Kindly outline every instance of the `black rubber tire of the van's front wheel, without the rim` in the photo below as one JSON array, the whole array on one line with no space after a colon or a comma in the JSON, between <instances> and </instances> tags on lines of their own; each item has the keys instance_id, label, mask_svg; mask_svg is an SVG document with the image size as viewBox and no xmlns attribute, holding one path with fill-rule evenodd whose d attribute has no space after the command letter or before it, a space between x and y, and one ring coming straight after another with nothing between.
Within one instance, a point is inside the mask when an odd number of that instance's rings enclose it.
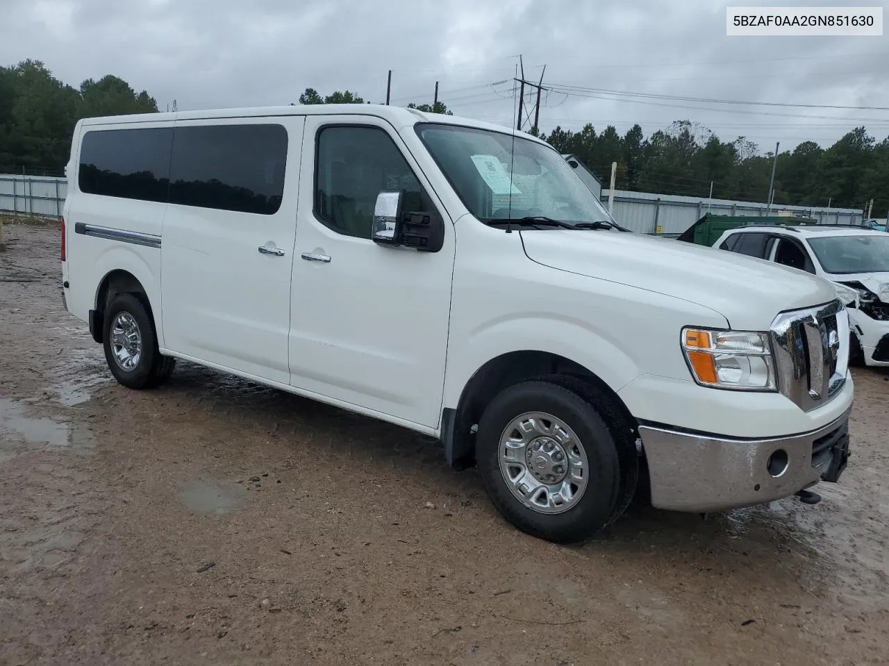
<instances>
[{"instance_id":1,"label":"black rubber tire of the van's front wheel, without the rim","mask_svg":"<svg viewBox=\"0 0 889 666\"><path fill-rule=\"evenodd\" d=\"M478 472L494 506L526 534L555 543L581 542L617 519L632 499L638 478L635 440L629 436L626 419L603 398L578 379L545 377L504 389L485 408L476 435ZM514 418L526 412L543 412L561 420L577 435L586 453L586 489L566 511L543 513L530 508L513 494L501 473L501 435Z\"/></svg>"}]
</instances>

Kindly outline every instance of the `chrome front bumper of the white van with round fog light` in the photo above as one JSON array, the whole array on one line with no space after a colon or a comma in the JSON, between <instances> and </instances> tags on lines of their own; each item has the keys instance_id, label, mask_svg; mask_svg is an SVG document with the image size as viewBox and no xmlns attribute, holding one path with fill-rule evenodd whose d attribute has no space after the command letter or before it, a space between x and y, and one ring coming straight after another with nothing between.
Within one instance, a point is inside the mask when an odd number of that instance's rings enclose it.
<instances>
[{"instance_id":1,"label":"chrome front bumper of the white van with round fog light","mask_svg":"<svg viewBox=\"0 0 889 666\"><path fill-rule=\"evenodd\" d=\"M812 432L771 439L640 425L652 504L669 511L725 511L792 496L821 480L836 483L849 457L850 411Z\"/></svg>"}]
</instances>

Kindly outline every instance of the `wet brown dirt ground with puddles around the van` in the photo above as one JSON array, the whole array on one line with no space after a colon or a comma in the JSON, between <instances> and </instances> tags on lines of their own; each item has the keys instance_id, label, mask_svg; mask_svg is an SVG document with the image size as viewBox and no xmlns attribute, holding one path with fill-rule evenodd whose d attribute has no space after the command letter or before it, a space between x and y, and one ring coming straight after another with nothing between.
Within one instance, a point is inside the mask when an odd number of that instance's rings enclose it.
<instances>
[{"instance_id":1,"label":"wet brown dirt ground with puddles around the van","mask_svg":"<svg viewBox=\"0 0 889 666\"><path fill-rule=\"evenodd\" d=\"M117 385L57 226L0 254L0 664L889 663L889 373L823 501L518 533L436 442L180 363Z\"/></svg>"}]
</instances>

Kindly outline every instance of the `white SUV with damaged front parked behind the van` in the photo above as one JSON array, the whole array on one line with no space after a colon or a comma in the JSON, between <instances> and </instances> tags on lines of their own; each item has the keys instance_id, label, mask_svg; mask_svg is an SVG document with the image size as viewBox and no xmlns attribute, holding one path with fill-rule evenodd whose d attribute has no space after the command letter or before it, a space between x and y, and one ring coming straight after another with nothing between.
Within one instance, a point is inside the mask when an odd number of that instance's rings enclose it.
<instances>
[{"instance_id":1,"label":"white SUV with damaged front parked behind the van","mask_svg":"<svg viewBox=\"0 0 889 666\"><path fill-rule=\"evenodd\" d=\"M849 311L853 361L889 366L889 234L853 226L746 226L713 247L834 282Z\"/></svg>"}]
</instances>

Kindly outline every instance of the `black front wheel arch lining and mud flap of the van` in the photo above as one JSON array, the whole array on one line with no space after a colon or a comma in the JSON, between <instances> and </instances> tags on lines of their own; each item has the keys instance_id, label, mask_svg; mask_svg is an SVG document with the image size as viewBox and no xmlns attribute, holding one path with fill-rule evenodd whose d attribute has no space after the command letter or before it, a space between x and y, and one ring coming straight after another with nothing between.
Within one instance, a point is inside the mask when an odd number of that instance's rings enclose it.
<instances>
[{"instance_id":1,"label":"black front wheel arch lining and mud flap of the van","mask_svg":"<svg viewBox=\"0 0 889 666\"><path fill-rule=\"evenodd\" d=\"M509 385L532 379L560 375L574 377L589 385L610 400L627 423L637 427L637 421L614 389L597 373L565 356L537 350L501 353L477 369L460 395L456 408L442 410L441 440L445 457L454 469L466 469L475 464L474 426L485 406Z\"/></svg>"}]
</instances>

